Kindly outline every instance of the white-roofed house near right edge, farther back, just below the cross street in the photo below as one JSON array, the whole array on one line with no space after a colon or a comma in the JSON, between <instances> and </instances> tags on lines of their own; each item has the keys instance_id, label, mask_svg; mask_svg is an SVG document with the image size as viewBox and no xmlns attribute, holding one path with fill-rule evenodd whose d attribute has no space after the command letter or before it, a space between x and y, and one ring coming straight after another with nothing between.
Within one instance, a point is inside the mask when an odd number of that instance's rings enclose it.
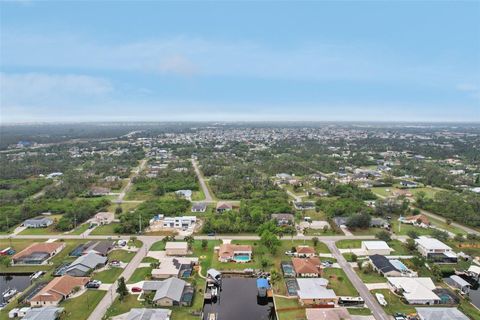
<instances>
[{"instance_id":1,"label":"white-roofed house near right edge, farther back, just below the cross street","mask_svg":"<svg viewBox=\"0 0 480 320\"><path fill-rule=\"evenodd\" d=\"M452 248L438 239L420 236L415 239L417 250L430 261L437 263L457 263L458 257Z\"/></svg>"}]
</instances>

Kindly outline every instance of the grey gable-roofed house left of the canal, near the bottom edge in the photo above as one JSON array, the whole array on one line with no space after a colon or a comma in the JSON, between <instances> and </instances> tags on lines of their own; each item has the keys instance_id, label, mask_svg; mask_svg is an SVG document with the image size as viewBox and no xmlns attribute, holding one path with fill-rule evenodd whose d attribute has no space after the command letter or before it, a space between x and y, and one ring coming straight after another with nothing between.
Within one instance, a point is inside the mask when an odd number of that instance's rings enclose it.
<instances>
[{"instance_id":1,"label":"grey gable-roofed house left of the canal, near the bottom edge","mask_svg":"<svg viewBox=\"0 0 480 320\"><path fill-rule=\"evenodd\" d=\"M185 300L183 297L187 292L192 293L191 289L187 282L178 278L143 283L143 292L146 294L154 292L153 303L162 307L188 305L191 300Z\"/></svg>"}]
</instances>

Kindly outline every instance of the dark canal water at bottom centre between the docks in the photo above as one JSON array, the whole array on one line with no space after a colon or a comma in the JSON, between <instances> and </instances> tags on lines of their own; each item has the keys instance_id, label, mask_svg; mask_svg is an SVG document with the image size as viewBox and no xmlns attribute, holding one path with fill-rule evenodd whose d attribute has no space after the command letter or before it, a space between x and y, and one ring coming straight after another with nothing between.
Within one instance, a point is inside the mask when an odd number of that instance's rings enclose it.
<instances>
[{"instance_id":1,"label":"dark canal water at bottom centre between the docks","mask_svg":"<svg viewBox=\"0 0 480 320\"><path fill-rule=\"evenodd\" d=\"M257 279L223 278L222 290L215 302L205 303L203 320L209 320L210 313L217 319L228 320L273 320L273 302L257 298Z\"/></svg>"}]
</instances>

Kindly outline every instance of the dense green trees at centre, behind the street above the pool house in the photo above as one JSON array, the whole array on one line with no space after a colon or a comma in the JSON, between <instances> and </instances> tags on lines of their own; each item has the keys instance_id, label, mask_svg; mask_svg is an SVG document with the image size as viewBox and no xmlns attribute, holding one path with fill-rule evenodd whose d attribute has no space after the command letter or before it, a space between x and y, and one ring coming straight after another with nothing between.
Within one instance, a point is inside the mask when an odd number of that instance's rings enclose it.
<instances>
[{"instance_id":1,"label":"dense green trees at centre, behind the street above the pool house","mask_svg":"<svg viewBox=\"0 0 480 320\"><path fill-rule=\"evenodd\" d=\"M281 190L255 192L251 194L251 199L241 202L239 211L207 214L203 232L255 232L259 225L270 220L272 213L289 212L292 212L292 208L285 192Z\"/></svg>"}]
</instances>

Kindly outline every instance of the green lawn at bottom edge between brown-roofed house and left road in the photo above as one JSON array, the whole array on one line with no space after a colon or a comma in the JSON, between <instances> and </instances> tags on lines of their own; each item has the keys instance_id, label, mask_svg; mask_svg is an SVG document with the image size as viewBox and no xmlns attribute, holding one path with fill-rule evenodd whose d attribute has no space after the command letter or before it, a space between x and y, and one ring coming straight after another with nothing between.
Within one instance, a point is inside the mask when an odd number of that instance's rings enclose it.
<instances>
[{"instance_id":1,"label":"green lawn at bottom edge between brown-roofed house and left road","mask_svg":"<svg viewBox=\"0 0 480 320\"><path fill-rule=\"evenodd\" d=\"M87 290L87 292L83 293L79 297L65 300L60 304L61 307L65 308L61 319L87 319L105 294L106 291Z\"/></svg>"}]
</instances>

